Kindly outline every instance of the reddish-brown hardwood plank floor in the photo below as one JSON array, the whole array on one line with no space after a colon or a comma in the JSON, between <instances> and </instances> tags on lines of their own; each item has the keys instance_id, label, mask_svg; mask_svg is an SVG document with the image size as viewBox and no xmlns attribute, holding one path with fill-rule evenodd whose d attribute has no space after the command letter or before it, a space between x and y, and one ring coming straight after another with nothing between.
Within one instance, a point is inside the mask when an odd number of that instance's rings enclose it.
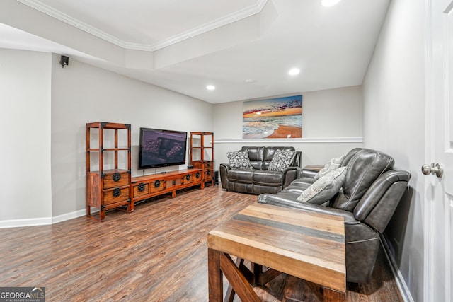
<instances>
[{"instance_id":1,"label":"reddish-brown hardwood plank floor","mask_svg":"<svg viewBox=\"0 0 453 302\"><path fill-rule=\"evenodd\" d=\"M207 301L207 233L253 202L214 186L109 211L103 223L0 229L0 286L45 286L48 302ZM319 301L285 274L256 291L263 301ZM403 301L382 252L372 282L348 284L346 298Z\"/></svg>"}]
</instances>

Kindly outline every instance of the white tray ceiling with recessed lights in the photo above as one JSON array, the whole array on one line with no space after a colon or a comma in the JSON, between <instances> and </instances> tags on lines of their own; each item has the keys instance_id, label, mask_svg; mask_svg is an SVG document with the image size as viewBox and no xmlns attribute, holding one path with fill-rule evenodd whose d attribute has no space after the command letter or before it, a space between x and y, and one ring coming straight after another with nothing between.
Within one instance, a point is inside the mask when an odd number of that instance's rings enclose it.
<instances>
[{"instance_id":1,"label":"white tray ceiling with recessed lights","mask_svg":"<svg viewBox=\"0 0 453 302\"><path fill-rule=\"evenodd\" d=\"M321 0L2 0L0 47L64 54L67 68L72 58L224 103L360 85L388 6L389 0L332 7ZM292 67L301 72L289 76Z\"/></svg>"}]
</instances>

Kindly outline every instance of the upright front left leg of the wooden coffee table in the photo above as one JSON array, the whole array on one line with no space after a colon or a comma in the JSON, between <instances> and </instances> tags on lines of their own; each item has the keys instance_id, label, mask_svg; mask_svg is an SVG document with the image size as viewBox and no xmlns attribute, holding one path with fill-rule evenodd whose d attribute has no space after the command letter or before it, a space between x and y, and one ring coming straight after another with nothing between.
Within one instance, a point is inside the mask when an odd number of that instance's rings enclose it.
<instances>
[{"instance_id":1,"label":"upright front left leg of the wooden coffee table","mask_svg":"<svg viewBox=\"0 0 453 302\"><path fill-rule=\"evenodd\" d=\"M207 272L209 283L209 301L223 301L223 280L222 271L220 270L220 254L217 250L207 249Z\"/></svg>"}]
</instances>

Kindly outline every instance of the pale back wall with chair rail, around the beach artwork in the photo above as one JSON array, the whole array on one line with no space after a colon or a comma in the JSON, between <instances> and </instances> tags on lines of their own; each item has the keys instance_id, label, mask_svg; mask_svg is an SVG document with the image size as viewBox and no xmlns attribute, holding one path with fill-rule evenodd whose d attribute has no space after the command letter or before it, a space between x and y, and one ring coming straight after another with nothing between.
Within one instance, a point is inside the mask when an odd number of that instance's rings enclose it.
<instances>
[{"instance_id":1,"label":"pale back wall with chair rail, around the beach artwork","mask_svg":"<svg viewBox=\"0 0 453 302\"><path fill-rule=\"evenodd\" d=\"M302 166L324 164L362 146L362 88L302 93L302 139L242 139L243 101L214 105L214 165L241 146L294 146Z\"/></svg>"}]
</instances>

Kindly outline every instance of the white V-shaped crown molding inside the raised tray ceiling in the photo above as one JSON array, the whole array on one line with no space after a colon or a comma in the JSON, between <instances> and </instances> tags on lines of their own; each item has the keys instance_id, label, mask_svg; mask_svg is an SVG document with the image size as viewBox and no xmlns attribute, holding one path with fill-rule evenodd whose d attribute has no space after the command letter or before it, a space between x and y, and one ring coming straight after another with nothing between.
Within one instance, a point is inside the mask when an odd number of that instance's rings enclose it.
<instances>
[{"instance_id":1,"label":"white V-shaped crown molding inside the raised tray ceiling","mask_svg":"<svg viewBox=\"0 0 453 302\"><path fill-rule=\"evenodd\" d=\"M110 42L114 45L119 47L128 49L128 50L144 50L144 51L156 51L160 50L161 48L173 45L175 43L181 42L183 40L187 40L190 37L195 37L197 35L201 35L203 33L207 33L210 30L214 30L224 25L228 25L230 23L234 23L236 21L242 20L243 18L247 18L257 13L260 13L265 4L268 0L258 0L256 5L248 6L243 8L241 11L237 11L236 13L231 13L227 16L222 18L218 18L209 23L205 23L203 25L198 26L197 28L193 28L192 30L188 30L185 33L181 33L179 35L174 35L173 37L169 37L168 39L162 40L157 42L153 45L144 45L139 43L131 43L125 42L123 40L114 37L113 35L109 35L108 33L104 33L102 30L98 30L91 25L88 25L84 22L79 21L76 18L72 18L68 16L66 13L62 13L61 11L52 8L46 4L38 0L17 0L26 6L30 6L31 8L40 11L41 13L45 13L52 18L56 18L59 21L67 23L68 25L74 26L75 28L79 28L80 30L84 30L84 32L94 35L102 40Z\"/></svg>"}]
</instances>

